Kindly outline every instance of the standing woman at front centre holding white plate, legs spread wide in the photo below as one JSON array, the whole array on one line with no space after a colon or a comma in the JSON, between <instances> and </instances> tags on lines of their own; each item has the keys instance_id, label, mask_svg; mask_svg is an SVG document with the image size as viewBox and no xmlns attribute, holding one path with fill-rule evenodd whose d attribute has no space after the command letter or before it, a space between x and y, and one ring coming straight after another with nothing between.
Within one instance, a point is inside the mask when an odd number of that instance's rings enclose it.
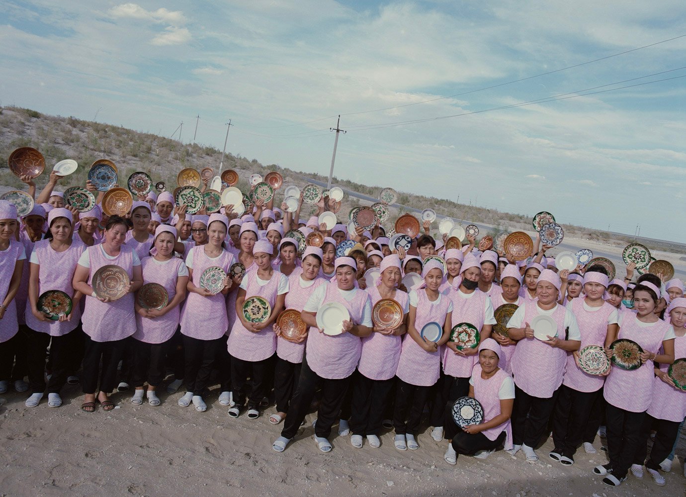
<instances>
[{"instance_id":1,"label":"standing woman at front centre holding white plate, legs spread wide","mask_svg":"<svg viewBox=\"0 0 686 497\"><path fill-rule=\"evenodd\" d=\"M305 420L316 389L322 398L315 424L315 441L322 452L331 450L331 426L338 420L343 398L355 371L362 349L361 338L372 332L372 305L366 291L355 288L357 265L352 257L339 257L335 262L336 279L322 284L303 308L300 316L311 330L307 336L307 354L300 370L298 388L291 400L281 437L273 448L283 452ZM324 303L338 302L350 314L342 332L328 335L317 328L317 313Z\"/></svg>"}]
</instances>

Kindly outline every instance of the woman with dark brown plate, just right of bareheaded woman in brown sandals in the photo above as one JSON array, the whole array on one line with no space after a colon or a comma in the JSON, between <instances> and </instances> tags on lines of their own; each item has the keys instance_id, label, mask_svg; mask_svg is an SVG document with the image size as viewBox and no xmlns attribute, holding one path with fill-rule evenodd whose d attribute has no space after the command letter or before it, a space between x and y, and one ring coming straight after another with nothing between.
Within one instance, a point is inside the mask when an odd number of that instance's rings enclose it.
<instances>
[{"instance_id":1,"label":"woman with dark brown plate, just right of bareheaded woman in brown sandals","mask_svg":"<svg viewBox=\"0 0 686 497\"><path fill-rule=\"evenodd\" d=\"M188 269L174 257L176 228L161 224L155 230L155 255L141 260L143 283L162 285L167 291L167 304L163 308L147 308L136 300L136 332L133 339L132 385L135 388L131 403L143 403L143 384L147 380L147 402L160 405L155 392L165 377L165 356L176 332L180 305L186 299Z\"/></svg>"}]
</instances>

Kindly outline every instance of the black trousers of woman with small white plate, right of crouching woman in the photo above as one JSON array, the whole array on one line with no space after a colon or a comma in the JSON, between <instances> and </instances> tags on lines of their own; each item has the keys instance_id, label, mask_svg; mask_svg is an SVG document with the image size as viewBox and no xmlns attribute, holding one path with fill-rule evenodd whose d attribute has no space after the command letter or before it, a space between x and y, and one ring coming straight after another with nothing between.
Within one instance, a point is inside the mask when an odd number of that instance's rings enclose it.
<instances>
[{"instance_id":1,"label":"black trousers of woman with small white plate, right of crouching woman","mask_svg":"<svg viewBox=\"0 0 686 497\"><path fill-rule=\"evenodd\" d=\"M555 396L534 397L514 384L514 407L512 407L512 443L536 448L545 433L548 420L555 406Z\"/></svg>"}]
</instances>

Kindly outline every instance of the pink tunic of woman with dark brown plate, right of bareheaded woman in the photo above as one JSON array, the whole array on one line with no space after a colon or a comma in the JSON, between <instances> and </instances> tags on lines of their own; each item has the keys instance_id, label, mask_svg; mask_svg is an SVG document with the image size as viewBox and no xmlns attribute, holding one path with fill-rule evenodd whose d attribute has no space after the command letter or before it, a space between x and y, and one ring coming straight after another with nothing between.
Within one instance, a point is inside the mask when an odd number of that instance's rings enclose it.
<instances>
[{"instance_id":1,"label":"pink tunic of woman with dark brown plate, right of bareheaded woman","mask_svg":"<svg viewBox=\"0 0 686 497\"><path fill-rule=\"evenodd\" d=\"M165 261L155 260L151 256L144 257L141 259L143 284L161 284L167 291L168 302L171 302L176 296L176 280L178 280L177 275L181 265L184 263L178 257L172 257ZM133 337L145 343L164 343L176 332L179 317L180 304L171 308L165 315L152 319L136 313L136 332Z\"/></svg>"}]
</instances>

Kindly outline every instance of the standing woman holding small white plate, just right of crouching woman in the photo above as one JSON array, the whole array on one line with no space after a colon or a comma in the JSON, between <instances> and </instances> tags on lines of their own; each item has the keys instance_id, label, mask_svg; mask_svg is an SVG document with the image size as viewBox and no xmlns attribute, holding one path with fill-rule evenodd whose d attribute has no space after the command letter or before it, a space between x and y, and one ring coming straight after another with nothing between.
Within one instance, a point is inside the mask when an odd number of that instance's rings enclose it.
<instances>
[{"instance_id":1,"label":"standing woman holding small white plate, just right of crouching woman","mask_svg":"<svg viewBox=\"0 0 686 497\"><path fill-rule=\"evenodd\" d=\"M541 441L553 411L567 352L578 350L581 343L576 318L569 308L557 303L561 284L554 271L543 269L536 282L536 300L527 300L508 322L508 335L517 340L512 356L517 400L512 413L514 447L510 454L517 454L521 449L530 462L539 459L534 447ZM556 324L555 334L547 335L545 341L534 338L530 326L539 315L552 318Z\"/></svg>"}]
</instances>

